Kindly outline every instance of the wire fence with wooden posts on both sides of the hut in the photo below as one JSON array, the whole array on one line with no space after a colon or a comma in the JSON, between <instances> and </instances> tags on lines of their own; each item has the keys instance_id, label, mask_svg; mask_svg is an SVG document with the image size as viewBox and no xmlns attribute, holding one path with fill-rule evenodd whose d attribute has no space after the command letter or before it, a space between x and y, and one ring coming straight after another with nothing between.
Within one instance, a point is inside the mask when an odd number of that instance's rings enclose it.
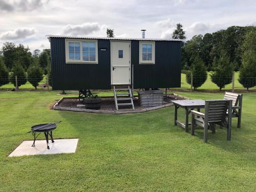
<instances>
[{"instance_id":1,"label":"wire fence with wooden posts on both sides of the hut","mask_svg":"<svg viewBox=\"0 0 256 192\"><path fill-rule=\"evenodd\" d=\"M0 78L0 89L6 90L31 90L45 89L51 90L52 77L44 75L43 78ZM179 90L205 91L205 90L224 90L224 91L256 91L256 77L244 77L239 79L239 74L235 73L229 77L211 78L205 76L189 76L181 74L181 87L174 88Z\"/></svg>"}]
</instances>

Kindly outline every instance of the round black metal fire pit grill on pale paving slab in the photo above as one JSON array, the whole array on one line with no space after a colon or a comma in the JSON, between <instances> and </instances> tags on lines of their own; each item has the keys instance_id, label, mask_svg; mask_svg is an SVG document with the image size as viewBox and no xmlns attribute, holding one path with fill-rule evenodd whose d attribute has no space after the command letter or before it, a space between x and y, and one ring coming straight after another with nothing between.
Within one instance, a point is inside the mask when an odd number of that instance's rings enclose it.
<instances>
[{"instance_id":1,"label":"round black metal fire pit grill on pale paving slab","mask_svg":"<svg viewBox=\"0 0 256 192\"><path fill-rule=\"evenodd\" d=\"M54 143L54 140L52 138L52 131L55 130L56 127L57 127L56 123L46 123L46 124L38 124L38 125L32 126L31 132L32 132L32 135L34 136L34 142L33 142L32 146L35 146L35 140L38 137L38 135L40 135L40 133L44 133L45 137L46 137L47 148L48 148L48 150L50 150L48 138L50 135L52 143Z\"/></svg>"}]
</instances>

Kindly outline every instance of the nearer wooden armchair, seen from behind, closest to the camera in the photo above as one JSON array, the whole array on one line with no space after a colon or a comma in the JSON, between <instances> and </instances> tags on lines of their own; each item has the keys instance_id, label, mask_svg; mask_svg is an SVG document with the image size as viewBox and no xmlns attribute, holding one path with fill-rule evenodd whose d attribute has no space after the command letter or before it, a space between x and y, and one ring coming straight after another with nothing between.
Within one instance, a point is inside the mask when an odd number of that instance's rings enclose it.
<instances>
[{"instance_id":1,"label":"nearer wooden armchair, seen from behind, closest to the camera","mask_svg":"<svg viewBox=\"0 0 256 192\"><path fill-rule=\"evenodd\" d=\"M199 125L204 128L204 142L207 142L208 128L215 133L215 125L218 124L227 128L227 140L231 139L232 100L206 100L204 114L194 110L190 112L192 114L191 135L195 134L195 126ZM195 118L195 115L198 118Z\"/></svg>"}]
</instances>

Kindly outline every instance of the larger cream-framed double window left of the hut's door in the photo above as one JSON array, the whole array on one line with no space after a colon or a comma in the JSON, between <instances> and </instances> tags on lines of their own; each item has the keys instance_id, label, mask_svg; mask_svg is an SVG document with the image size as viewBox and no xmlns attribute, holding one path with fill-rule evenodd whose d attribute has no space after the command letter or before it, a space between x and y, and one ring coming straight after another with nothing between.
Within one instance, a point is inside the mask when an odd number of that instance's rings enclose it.
<instances>
[{"instance_id":1,"label":"larger cream-framed double window left of the hut's door","mask_svg":"<svg viewBox=\"0 0 256 192\"><path fill-rule=\"evenodd\" d=\"M98 40L65 39L66 63L98 63Z\"/></svg>"}]
</instances>

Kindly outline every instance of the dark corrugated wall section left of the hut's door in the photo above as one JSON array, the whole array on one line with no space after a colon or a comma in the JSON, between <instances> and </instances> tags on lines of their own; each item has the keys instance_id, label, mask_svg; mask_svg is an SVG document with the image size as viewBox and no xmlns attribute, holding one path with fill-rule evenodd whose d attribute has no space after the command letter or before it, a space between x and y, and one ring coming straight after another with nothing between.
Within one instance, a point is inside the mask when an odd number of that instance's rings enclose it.
<instances>
[{"instance_id":1,"label":"dark corrugated wall section left of the hut's door","mask_svg":"<svg viewBox=\"0 0 256 192\"><path fill-rule=\"evenodd\" d=\"M53 90L111 89L109 40L98 40L98 64L66 63L65 54L65 38L51 38Z\"/></svg>"}]
</instances>

